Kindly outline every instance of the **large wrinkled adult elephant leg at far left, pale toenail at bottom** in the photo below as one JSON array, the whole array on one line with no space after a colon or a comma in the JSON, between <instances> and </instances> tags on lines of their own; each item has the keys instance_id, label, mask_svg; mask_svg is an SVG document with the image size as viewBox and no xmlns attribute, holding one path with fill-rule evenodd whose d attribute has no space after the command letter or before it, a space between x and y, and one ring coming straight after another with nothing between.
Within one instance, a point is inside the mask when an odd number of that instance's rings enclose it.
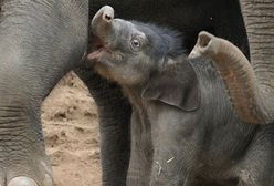
<instances>
[{"instance_id":1,"label":"large wrinkled adult elephant leg at far left, pale toenail at bottom","mask_svg":"<svg viewBox=\"0 0 274 186\"><path fill-rule=\"evenodd\" d=\"M0 185L52 186L40 110L87 45L87 0L4 0L0 20Z\"/></svg>"}]
</instances>

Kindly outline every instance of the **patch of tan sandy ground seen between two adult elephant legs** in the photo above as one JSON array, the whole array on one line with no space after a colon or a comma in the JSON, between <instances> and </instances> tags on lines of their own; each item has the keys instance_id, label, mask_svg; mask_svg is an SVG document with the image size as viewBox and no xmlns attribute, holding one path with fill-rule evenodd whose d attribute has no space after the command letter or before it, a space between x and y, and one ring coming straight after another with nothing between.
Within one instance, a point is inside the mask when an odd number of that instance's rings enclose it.
<instances>
[{"instance_id":1,"label":"patch of tan sandy ground seen between two adult elephant legs","mask_svg":"<svg viewBox=\"0 0 274 186\"><path fill-rule=\"evenodd\" d=\"M61 80L45 100L42 121L54 186L99 186L97 111L75 74Z\"/></svg>"}]
</instances>

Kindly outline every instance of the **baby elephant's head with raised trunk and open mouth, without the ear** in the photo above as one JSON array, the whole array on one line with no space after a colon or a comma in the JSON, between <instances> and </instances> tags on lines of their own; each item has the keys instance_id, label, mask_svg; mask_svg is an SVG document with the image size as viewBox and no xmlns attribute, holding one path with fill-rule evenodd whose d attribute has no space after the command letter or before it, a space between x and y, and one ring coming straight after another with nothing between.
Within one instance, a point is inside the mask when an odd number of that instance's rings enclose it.
<instances>
[{"instance_id":1,"label":"baby elephant's head with raised trunk and open mouth, without the ear","mask_svg":"<svg viewBox=\"0 0 274 186\"><path fill-rule=\"evenodd\" d=\"M105 6L92 20L93 52L87 59L103 76L120 84L139 84L182 54L178 33L136 21L114 19Z\"/></svg>"}]
</instances>

